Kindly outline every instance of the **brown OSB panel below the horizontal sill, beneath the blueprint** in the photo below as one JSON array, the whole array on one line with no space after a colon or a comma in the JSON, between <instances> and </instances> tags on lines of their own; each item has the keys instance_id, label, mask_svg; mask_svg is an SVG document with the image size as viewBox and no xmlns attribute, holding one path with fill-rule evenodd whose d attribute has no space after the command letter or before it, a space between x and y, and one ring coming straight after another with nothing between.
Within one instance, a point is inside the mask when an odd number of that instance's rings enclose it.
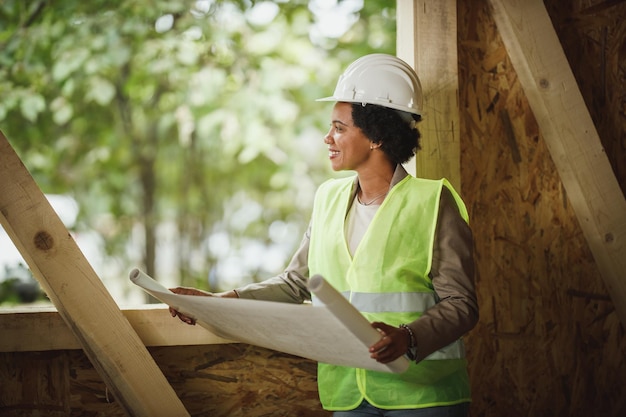
<instances>
[{"instance_id":1,"label":"brown OSB panel below the horizontal sill, beneath the blueprint","mask_svg":"<svg viewBox=\"0 0 626 417\"><path fill-rule=\"evenodd\" d=\"M331 415L313 361L245 344L150 353L191 416ZM81 350L0 353L0 387L3 417L126 416Z\"/></svg>"}]
</instances>

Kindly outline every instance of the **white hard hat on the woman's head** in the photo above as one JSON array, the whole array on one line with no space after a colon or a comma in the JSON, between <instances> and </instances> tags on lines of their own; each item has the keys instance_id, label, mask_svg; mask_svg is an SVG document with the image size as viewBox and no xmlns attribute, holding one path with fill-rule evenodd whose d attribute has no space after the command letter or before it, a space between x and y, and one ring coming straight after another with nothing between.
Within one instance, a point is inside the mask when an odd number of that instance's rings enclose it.
<instances>
[{"instance_id":1,"label":"white hard hat on the woman's head","mask_svg":"<svg viewBox=\"0 0 626 417\"><path fill-rule=\"evenodd\" d=\"M344 71L331 97L317 101L377 104L422 115L422 86L406 62L393 55L365 55Z\"/></svg>"}]
</instances>

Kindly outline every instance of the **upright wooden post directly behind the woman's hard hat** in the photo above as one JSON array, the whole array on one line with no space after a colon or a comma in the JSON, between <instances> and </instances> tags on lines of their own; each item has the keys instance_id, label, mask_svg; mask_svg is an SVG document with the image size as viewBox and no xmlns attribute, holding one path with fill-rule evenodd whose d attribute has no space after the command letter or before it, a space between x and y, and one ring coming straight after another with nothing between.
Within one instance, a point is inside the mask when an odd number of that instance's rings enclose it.
<instances>
[{"instance_id":1,"label":"upright wooden post directly behind the woman's hard hat","mask_svg":"<svg viewBox=\"0 0 626 417\"><path fill-rule=\"evenodd\" d=\"M418 177L446 177L461 190L456 0L397 2L397 54L422 83L422 149L407 164Z\"/></svg>"}]
</instances>

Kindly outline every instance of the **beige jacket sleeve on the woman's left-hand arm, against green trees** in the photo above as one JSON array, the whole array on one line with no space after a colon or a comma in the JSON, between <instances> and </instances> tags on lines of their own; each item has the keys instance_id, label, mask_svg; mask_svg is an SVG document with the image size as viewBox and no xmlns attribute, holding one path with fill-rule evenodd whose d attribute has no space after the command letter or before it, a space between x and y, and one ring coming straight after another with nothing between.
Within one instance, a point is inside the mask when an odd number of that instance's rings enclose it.
<instances>
[{"instance_id":1,"label":"beige jacket sleeve on the woman's left-hand arm, against green trees","mask_svg":"<svg viewBox=\"0 0 626 417\"><path fill-rule=\"evenodd\" d=\"M311 300L311 293L307 287L309 241L310 225L283 273L265 281L235 289L239 297L297 304Z\"/></svg>"}]
</instances>

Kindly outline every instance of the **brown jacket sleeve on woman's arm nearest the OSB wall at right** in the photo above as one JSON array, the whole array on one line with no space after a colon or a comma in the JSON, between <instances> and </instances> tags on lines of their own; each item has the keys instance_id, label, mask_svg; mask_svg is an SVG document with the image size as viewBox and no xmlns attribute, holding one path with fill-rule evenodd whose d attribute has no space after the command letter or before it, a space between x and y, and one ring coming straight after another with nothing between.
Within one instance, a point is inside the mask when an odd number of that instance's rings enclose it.
<instances>
[{"instance_id":1,"label":"brown jacket sleeve on woman's arm nearest the OSB wall at right","mask_svg":"<svg viewBox=\"0 0 626 417\"><path fill-rule=\"evenodd\" d=\"M439 302L408 324L417 339L417 361L459 339L478 322L472 232L446 187L439 206L430 277Z\"/></svg>"}]
</instances>

